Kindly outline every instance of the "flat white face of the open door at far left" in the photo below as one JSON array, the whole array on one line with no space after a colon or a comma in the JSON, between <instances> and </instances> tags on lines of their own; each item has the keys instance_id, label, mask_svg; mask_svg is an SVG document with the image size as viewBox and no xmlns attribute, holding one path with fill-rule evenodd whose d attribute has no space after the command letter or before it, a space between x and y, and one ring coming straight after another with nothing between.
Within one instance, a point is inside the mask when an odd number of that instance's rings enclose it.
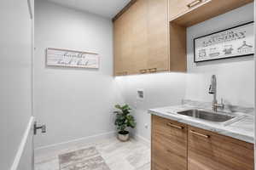
<instances>
[{"instance_id":1,"label":"flat white face of the open door at far left","mask_svg":"<svg viewBox=\"0 0 256 170\"><path fill-rule=\"evenodd\" d=\"M0 169L8 170L32 116L32 20L27 1L2 0L0 20Z\"/></svg>"}]
</instances>

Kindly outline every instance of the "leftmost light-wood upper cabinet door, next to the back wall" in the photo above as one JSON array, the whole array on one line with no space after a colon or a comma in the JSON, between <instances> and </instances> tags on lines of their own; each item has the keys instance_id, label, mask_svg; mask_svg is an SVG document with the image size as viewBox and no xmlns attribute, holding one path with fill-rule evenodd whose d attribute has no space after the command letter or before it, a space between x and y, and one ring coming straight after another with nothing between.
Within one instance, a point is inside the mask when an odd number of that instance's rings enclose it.
<instances>
[{"instance_id":1,"label":"leftmost light-wood upper cabinet door, next to the back wall","mask_svg":"<svg viewBox=\"0 0 256 170\"><path fill-rule=\"evenodd\" d=\"M147 69L147 2L137 1L114 21L114 66L117 76L138 74Z\"/></svg>"}]
</instances>

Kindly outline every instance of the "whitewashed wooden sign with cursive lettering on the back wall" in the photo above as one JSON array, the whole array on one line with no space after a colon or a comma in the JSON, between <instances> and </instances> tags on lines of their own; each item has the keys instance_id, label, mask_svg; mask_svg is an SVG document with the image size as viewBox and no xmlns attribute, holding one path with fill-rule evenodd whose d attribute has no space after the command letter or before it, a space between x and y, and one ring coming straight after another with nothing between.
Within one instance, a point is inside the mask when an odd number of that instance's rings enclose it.
<instances>
[{"instance_id":1,"label":"whitewashed wooden sign with cursive lettering on the back wall","mask_svg":"<svg viewBox=\"0 0 256 170\"><path fill-rule=\"evenodd\" d=\"M97 69L99 60L98 54L83 51L47 48L46 52L46 65L48 66Z\"/></svg>"}]
</instances>

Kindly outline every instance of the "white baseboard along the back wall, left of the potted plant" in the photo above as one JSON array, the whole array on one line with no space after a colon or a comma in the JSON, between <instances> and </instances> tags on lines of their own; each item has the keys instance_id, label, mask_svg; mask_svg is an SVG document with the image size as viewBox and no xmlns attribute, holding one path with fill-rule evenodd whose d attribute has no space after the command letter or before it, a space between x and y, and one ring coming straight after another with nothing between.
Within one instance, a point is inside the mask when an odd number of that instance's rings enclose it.
<instances>
[{"instance_id":1,"label":"white baseboard along the back wall, left of the potted plant","mask_svg":"<svg viewBox=\"0 0 256 170\"><path fill-rule=\"evenodd\" d=\"M108 132L108 133L100 133L100 134L96 134L96 135L92 135L92 136L88 136L88 137L84 137L84 138L80 138L80 139L73 139L73 140L69 140L66 142L61 142L58 144L49 144L43 147L38 147L35 149L35 155L36 156L40 156L40 155L44 155L44 154L48 154L51 152L55 152L57 150L65 150L69 147L73 147L77 144L90 144L90 143L94 143L98 140L101 139L108 139L108 138L112 138L115 136L115 132Z\"/></svg>"}]
</instances>

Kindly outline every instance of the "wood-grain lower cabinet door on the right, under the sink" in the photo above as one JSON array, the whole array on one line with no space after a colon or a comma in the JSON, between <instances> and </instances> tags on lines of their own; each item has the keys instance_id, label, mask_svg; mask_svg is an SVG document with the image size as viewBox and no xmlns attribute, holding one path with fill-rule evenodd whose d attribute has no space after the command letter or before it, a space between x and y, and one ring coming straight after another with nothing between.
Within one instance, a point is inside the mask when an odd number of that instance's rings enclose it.
<instances>
[{"instance_id":1,"label":"wood-grain lower cabinet door on the right, under the sink","mask_svg":"<svg viewBox=\"0 0 256 170\"><path fill-rule=\"evenodd\" d=\"M189 170L253 170L253 144L189 127Z\"/></svg>"}]
</instances>

